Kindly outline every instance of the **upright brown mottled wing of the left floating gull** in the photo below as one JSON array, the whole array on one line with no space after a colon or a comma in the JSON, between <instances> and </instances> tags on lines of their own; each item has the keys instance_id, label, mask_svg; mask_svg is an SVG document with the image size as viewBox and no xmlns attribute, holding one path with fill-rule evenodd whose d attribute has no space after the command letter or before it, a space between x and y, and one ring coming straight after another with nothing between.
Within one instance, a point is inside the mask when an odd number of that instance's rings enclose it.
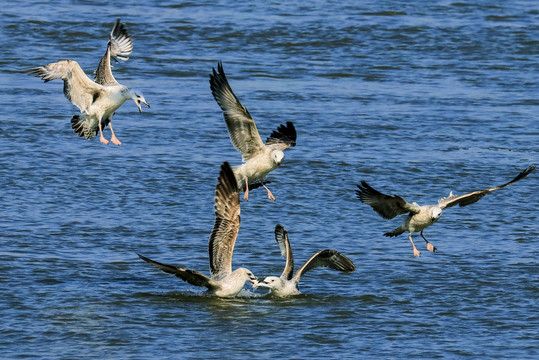
<instances>
[{"instance_id":1,"label":"upright brown mottled wing of the left floating gull","mask_svg":"<svg viewBox=\"0 0 539 360\"><path fill-rule=\"evenodd\" d=\"M240 197L234 172L221 165L215 186L215 223L208 244L212 277L219 280L232 272L232 253L240 228Z\"/></svg>"}]
</instances>

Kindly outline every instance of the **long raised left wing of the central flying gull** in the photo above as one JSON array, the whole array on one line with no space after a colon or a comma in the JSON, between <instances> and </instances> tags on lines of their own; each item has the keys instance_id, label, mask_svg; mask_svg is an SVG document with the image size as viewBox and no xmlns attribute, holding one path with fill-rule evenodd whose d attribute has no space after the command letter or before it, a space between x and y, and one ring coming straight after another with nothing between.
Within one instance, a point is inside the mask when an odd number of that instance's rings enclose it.
<instances>
[{"instance_id":1,"label":"long raised left wing of the central flying gull","mask_svg":"<svg viewBox=\"0 0 539 360\"><path fill-rule=\"evenodd\" d=\"M217 71L215 68L212 70L213 73L210 74L211 92L223 110L232 144L246 161L264 151L265 145L260 138L255 121L228 84L223 64L219 62Z\"/></svg>"}]
</instances>

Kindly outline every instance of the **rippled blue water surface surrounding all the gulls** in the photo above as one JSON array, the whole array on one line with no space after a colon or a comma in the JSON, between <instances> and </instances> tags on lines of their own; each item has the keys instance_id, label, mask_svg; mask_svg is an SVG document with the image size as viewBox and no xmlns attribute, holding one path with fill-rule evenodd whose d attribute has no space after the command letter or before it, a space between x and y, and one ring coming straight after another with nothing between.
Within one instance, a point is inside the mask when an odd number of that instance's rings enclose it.
<instances>
[{"instance_id":1,"label":"rippled blue water surface surrounding all the gulls","mask_svg":"<svg viewBox=\"0 0 539 360\"><path fill-rule=\"evenodd\" d=\"M77 137L62 82L21 72L91 73L118 17L134 51L114 74L151 105L116 112L121 147ZM0 19L2 358L539 357L539 173L444 211L419 258L354 194L433 204L539 163L537 2L31 0ZM223 300L137 257L209 273L219 165L240 163L209 90L219 60L262 138L298 131L277 201L242 201L234 266L280 274L281 223L297 266L334 248L355 272Z\"/></svg>"}]
</instances>

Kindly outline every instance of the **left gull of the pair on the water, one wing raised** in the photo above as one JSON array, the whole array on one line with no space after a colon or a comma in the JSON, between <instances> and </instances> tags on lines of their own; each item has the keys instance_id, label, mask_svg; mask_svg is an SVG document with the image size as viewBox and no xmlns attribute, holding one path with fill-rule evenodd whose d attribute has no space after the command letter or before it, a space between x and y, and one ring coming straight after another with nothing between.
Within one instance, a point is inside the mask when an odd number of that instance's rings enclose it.
<instances>
[{"instance_id":1,"label":"left gull of the pair on the water, one wing raised","mask_svg":"<svg viewBox=\"0 0 539 360\"><path fill-rule=\"evenodd\" d=\"M236 296L246 281L254 284L257 278L251 271L238 268L232 271L232 252L240 228L240 198L234 172L228 162L221 165L219 183L215 187L215 223L208 245L211 277L198 271L163 264L140 254L138 256L156 268L174 274L191 285L208 288L218 297Z\"/></svg>"}]
</instances>

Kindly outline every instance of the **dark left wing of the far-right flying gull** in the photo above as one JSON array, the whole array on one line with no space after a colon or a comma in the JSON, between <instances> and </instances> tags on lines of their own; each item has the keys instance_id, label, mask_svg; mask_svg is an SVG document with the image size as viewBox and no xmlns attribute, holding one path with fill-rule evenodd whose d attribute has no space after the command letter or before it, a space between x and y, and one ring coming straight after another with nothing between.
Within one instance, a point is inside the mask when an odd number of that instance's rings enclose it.
<instances>
[{"instance_id":1,"label":"dark left wing of the far-right flying gull","mask_svg":"<svg viewBox=\"0 0 539 360\"><path fill-rule=\"evenodd\" d=\"M393 219L397 215L406 213L418 213L420 206L410 204L398 195L385 195L378 190L373 189L367 182L361 181L361 185L357 185L359 190L356 190L358 199L370 205L381 217L385 219Z\"/></svg>"}]
</instances>

